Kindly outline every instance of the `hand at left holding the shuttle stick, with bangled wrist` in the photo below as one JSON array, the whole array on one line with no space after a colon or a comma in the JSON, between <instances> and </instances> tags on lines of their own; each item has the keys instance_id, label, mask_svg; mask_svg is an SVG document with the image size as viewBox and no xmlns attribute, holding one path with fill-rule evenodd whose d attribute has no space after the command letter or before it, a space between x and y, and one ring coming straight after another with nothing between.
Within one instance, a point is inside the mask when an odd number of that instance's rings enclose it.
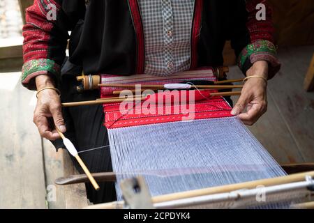
<instances>
[{"instance_id":1,"label":"hand at left holding the shuttle stick, with bangled wrist","mask_svg":"<svg viewBox=\"0 0 314 223\"><path fill-rule=\"evenodd\" d=\"M54 87L51 77L39 75L36 77L37 89ZM36 109L33 113L33 123L36 124L41 137L46 139L59 139L59 134L55 126L61 131L66 132L66 126L61 112L61 100L57 91L45 89L38 93Z\"/></svg>"}]
</instances>

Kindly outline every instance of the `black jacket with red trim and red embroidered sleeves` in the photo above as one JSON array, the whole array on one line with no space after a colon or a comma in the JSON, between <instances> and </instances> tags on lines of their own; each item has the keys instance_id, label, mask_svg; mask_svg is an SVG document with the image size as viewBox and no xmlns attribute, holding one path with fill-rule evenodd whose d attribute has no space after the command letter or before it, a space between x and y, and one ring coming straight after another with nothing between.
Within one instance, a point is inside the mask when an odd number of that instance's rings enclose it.
<instances>
[{"instance_id":1,"label":"black jacket with red trim and red embroidered sleeves","mask_svg":"<svg viewBox=\"0 0 314 223\"><path fill-rule=\"evenodd\" d=\"M57 6L55 21L45 16L50 2ZM267 20L256 20L257 3L267 7ZM68 31L72 31L70 36ZM273 31L271 10L264 0L195 0L190 69L222 66L225 41L231 40L244 73L254 60L263 59L274 68L272 76L279 68ZM27 9L23 35L22 83L29 89L36 75L59 77L68 38L70 62L87 74L132 75L144 70L144 37L136 0L90 0L87 6L84 0L35 0Z\"/></svg>"}]
</instances>

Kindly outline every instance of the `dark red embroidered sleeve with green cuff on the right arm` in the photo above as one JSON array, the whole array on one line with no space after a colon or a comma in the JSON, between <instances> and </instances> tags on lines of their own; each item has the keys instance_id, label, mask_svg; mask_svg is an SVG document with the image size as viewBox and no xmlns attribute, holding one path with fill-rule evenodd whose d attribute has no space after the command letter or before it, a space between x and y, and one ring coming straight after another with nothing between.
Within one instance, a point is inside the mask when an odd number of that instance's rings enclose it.
<instances>
[{"instance_id":1,"label":"dark red embroidered sleeve with green cuff on the right arm","mask_svg":"<svg viewBox=\"0 0 314 223\"><path fill-rule=\"evenodd\" d=\"M258 13L264 9L266 13L265 20L257 20ZM267 61L269 63L269 78L274 77L280 70L281 63L277 59L276 47L274 45L271 7L267 0L247 0L246 10L248 12L246 27L251 43L239 54L239 67L245 73L256 61Z\"/></svg>"}]
</instances>

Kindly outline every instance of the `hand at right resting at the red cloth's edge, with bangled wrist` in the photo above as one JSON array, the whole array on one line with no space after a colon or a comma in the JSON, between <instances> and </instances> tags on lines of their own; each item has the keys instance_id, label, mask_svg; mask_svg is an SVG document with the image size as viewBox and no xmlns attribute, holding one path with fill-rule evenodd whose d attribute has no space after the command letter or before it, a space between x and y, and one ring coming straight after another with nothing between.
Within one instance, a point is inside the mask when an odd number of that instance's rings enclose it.
<instances>
[{"instance_id":1,"label":"hand at right resting at the red cloth's edge, with bangled wrist","mask_svg":"<svg viewBox=\"0 0 314 223\"><path fill-rule=\"evenodd\" d=\"M252 75L260 75L267 78L268 63L266 61L255 62L248 72L246 72L247 77ZM259 77L248 79L231 114L239 115L239 118L244 124L253 125L267 111L266 90L267 82L264 79Z\"/></svg>"}]
</instances>

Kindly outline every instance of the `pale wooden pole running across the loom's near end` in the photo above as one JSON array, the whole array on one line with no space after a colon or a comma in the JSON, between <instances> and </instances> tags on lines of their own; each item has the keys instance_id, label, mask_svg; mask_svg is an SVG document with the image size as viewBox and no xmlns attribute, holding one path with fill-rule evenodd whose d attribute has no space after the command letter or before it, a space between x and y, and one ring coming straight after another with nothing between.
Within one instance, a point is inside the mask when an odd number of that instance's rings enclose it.
<instances>
[{"instance_id":1,"label":"pale wooden pole running across the loom's near end","mask_svg":"<svg viewBox=\"0 0 314 223\"><path fill-rule=\"evenodd\" d=\"M235 190L243 190L243 189L253 189L259 185L263 185L264 187L281 185L286 183L294 183L299 181L304 181L306 176L314 177L314 171L304 172L300 174L292 174L288 176L279 176L276 178L267 178L262 180L253 180L244 183L236 183L230 185L223 185L217 187L207 187L199 190L190 190L188 192L177 192L173 194L164 194L156 197L152 197L151 200L153 203L160 203L165 201L174 201L178 199L186 199L191 197L200 197L210 194L220 194L226 192L232 192ZM124 206L124 201L115 201L111 203L101 203L95 206L89 206L87 208L96 208L96 209L112 209L119 208Z\"/></svg>"}]
</instances>

